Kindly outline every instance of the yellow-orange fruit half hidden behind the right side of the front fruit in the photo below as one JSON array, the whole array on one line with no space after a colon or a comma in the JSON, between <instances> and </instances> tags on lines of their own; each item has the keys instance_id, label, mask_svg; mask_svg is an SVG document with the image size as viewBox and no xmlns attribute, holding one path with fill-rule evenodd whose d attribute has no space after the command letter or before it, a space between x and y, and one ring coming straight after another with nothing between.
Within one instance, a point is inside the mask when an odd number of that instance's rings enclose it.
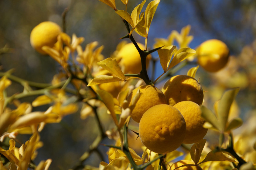
<instances>
[{"instance_id":1,"label":"yellow-orange fruit half hidden behind the right side of the front fruit","mask_svg":"<svg viewBox=\"0 0 256 170\"><path fill-rule=\"evenodd\" d=\"M200 106L192 101L181 101L173 107L181 112L186 122L187 131L183 143L196 143L203 139L208 129L203 127L205 120L201 117Z\"/></svg>"}]
</instances>

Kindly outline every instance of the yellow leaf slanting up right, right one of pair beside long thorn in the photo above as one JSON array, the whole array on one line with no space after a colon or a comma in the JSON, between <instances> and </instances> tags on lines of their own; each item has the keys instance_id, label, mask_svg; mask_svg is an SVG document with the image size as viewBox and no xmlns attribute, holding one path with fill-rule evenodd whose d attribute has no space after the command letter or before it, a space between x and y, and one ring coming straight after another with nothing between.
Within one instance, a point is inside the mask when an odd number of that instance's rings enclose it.
<instances>
[{"instance_id":1,"label":"yellow leaf slanting up right, right one of pair beside long thorn","mask_svg":"<svg viewBox=\"0 0 256 170\"><path fill-rule=\"evenodd\" d=\"M182 62L183 60L189 58L190 56L193 56L196 54L196 51L191 49L191 48L188 48L188 47L185 47L185 48L181 48L179 49L175 54L174 54L174 57L170 63L170 66L168 68L171 69L173 66L179 64L180 62Z\"/></svg>"}]
</instances>

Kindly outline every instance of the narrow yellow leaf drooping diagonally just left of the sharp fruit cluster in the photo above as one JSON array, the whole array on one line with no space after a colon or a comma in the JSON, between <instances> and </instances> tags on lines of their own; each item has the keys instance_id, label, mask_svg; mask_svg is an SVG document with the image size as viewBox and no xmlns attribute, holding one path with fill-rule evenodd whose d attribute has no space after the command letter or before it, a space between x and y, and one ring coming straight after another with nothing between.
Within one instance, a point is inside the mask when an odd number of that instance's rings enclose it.
<instances>
[{"instance_id":1,"label":"narrow yellow leaf drooping diagonally just left of the sharp fruit cluster","mask_svg":"<svg viewBox=\"0 0 256 170\"><path fill-rule=\"evenodd\" d=\"M101 90L101 89L96 90L96 92L99 94L102 101L104 102L104 104L106 105L108 110L110 111L110 114L111 114L116 126L118 126L118 121L117 121L115 109L114 109L114 97L109 92Z\"/></svg>"}]
</instances>

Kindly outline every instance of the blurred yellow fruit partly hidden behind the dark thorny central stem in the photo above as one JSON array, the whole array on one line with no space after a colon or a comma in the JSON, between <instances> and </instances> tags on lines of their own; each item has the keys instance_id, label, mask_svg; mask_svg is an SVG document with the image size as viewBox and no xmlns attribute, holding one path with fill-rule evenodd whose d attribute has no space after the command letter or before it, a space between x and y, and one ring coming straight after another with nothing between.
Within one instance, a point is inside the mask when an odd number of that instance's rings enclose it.
<instances>
[{"instance_id":1,"label":"blurred yellow fruit partly hidden behind the dark thorny central stem","mask_svg":"<svg viewBox=\"0 0 256 170\"><path fill-rule=\"evenodd\" d=\"M137 43L141 50L145 50L146 47ZM124 67L124 73L137 74L141 71L141 59L140 54L137 51L133 43L124 45L118 52L117 57L121 58L120 65ZM146 58L146 66L148 67L151 55Z\"/></svg>"}]
</instances>

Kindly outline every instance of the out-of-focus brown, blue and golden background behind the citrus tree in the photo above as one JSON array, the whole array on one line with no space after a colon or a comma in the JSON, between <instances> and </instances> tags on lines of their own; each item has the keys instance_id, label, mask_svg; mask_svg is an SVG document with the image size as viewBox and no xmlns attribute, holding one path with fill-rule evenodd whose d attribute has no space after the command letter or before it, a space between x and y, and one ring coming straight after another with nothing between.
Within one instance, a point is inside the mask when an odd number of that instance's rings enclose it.
<instances>
[{"instance_id":1,"label":"out-of-focus brown, blue and golden background behind the citrus tree","mask_svg":"<svg viewBox=\"0 0 256 170\"><path fill-rule=\"evenodd\" d=\"M148 0L146 2L149 3ZM140 1L129 0L128 12ZM121 1L116 0L118 9L125 9ZM144 5L145 8L146 5ZM0 1L0 48L11 50L0 55L1 72L15 68L13 75L39 83L50 83L58 72L58 65L50 57L37 53L30 45L31 30L43 21L53 21L62 25L62 13L66 13L66 33L85 37L87 43L98 41L104 45L103 55L110 57L126 35L121 18L112 8L97 0L1 0ZM242 90L237 97L237 112L248 118L247 112L255 114L256 103L256 1L255 0L161 0L149 32L149 48L154 38L167 38L172 30L180 30L191 25L190 35L194 36L190 48L195 49L208 39L219 39L230 48L233 56L228 67L216 74L210 74L199 68L196 78L204 87L205 103L218 100L226 88L240 86ZM134 33L135 40L144 43L144 39ZM157 57L157 53L153 54ZM160 68L160 69L158 69ZM186 74L185 67L179 74ZM157 64L155 77L162 73ZM229 79L227 79L229 78ZM23 88L13 83L8 89L13 94ZM34 97L25 98L32 101ZM47 108L47 107L45 107ZM43 110L44 107L35 109ZM104 111L102 111L104 113ZM111 119L105 113L104 129L111 128ZM39 149L37 164L40 160L52 158L50 169L68 169L77 163L97 136L97 126L93 117L80 119L80 114L68 115L59 124L48 124L42 131L44 146ZM29 136L28 136L29 137ZM24 136L20 136L21 141ZM103 141L103 143L109 141ZM99 146L99 154L93 153L85 164L98 167L101 154L108 148ZM104 161L107 161L104 158Z\"/></svg>"}]
</instances>

